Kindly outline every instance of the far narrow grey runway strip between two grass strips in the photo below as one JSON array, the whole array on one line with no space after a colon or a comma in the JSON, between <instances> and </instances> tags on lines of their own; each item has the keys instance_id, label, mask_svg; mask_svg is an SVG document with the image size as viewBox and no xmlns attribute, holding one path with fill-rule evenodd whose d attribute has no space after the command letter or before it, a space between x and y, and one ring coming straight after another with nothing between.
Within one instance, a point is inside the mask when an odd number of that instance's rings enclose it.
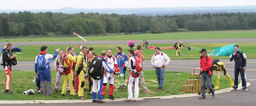
<instances>
[{"instance_id":1,"label":"far narrow grey runway strip between two grass strips","mask_svg":"<svg viewBox=\"0 0 256 106\"><path fill-rule=\"evenodd\" d=\"M210 42L255 42L256 38L240 39L174 39L174 40L148 40L149 44L175 44L177 41L185 43L210 43ZM42 41L42 42L11 42L15 46L42 46L42 45L91 45L91 44L128 44L129 41ZM0 42L0 46L6 46L7 42ZM141 40L135 40L135 44L141 44Z\"/></svg>"}]
</instances>

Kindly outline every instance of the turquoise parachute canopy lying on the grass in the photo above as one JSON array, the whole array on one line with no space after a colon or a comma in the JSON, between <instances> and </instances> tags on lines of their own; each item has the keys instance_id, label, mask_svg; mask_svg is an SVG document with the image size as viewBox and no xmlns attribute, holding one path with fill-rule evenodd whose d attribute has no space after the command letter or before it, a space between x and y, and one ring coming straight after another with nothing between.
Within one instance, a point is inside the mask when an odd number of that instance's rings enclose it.
<instances>
[{"instance_id":1,"label":"turquoise parachute canopy lying on the grass","mask_svg":"<svg viewBox=\"0 0 256 106\"><path fill-rule=\"evenodd\" d=\"M227 45L224 47L217 47L214 52L210 53L209 55L217 55L217 56L229 56L235 52L235 45L237 44L232 44L232 45ZM240 49L239 49L240 51Z\"/></svg>"}]
</instances>

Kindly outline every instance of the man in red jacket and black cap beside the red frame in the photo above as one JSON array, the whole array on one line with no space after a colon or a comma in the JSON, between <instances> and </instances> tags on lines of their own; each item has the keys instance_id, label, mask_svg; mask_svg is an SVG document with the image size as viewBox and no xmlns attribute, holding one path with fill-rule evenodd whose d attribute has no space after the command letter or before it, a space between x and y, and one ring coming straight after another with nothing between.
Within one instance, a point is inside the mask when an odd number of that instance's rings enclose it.
<instances>
[{"instance_id":1,"label":"man in red jacket and black cap beside the red frame","mask_svg":"<svg viewBox=\"0 0 256 106\"><path fill-rule=\"evenodd\" d=\"M212 68L212 59L207 55L207 52L205 49L202 49L200 51L201 57L200 57L200 75L201 75L201 84L202 84L202 97L199 97L199 99L205 99L205 80L207 87L209 88L210 92L212 93L212 99L214 99L214 89L212 88L211 80L212 80L212 71L210 70Z\"/></svg>"}]
</instances>

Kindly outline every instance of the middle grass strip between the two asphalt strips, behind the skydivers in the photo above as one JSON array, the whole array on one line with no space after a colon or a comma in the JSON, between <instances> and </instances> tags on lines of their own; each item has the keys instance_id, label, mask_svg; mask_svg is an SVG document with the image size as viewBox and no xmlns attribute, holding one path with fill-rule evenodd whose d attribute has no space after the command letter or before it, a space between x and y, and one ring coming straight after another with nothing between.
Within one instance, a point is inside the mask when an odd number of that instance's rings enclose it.
<instances>
[{"instance_id":1,"label":"middle grass strip between the two asphalt strips, behind the skydivers","mask_svg":"<svg viewBox=\"0 0 256 106\"><path fill-rule=\"evenodd\" d=\"M193 47L190 51L187 51L187 49L181 50L181 56L177 57L175 56L175 50L169 49L169 50L162 50L162 52L165 52L165 54L169 55L170 59L172 60L180 60L180 59L199 59L199 51L202 48L207 49L208 53L212 52L216 47L221 47L225 45L229 45L230 43L207 43L207 44L186 44L191 47ZM240 48L243 52L247 55L247 59L256 59L256 42L239 42ZM151 44L150 44L151 45ZM152 44L153 46L159 46L159 47L170 47L174 44ZM123 51L127 54L127 51L129 49L126 45L120 45L123 49ZM35 60L35 57L37 54L39 54L40 46L19 46L22 49L22 54L17 54L17 60ZM60 49L66 49L67 46L48 46L48 53L54 54L54 51L57 48ZM75 49L75 52L79 53L78 46L73 46ZM100 54L101 51L107 51L107 49L113 49L113 55L116 54L116 47L117 45L90 45L87 47L94 47L94 51L96 54ZM152 55L155 54L155 51L152 49L147 49L144 51L144 59L149 60L151 59ZM229 56L211 56L212 59L229 59Z\"/></svg>"}]
</instances>

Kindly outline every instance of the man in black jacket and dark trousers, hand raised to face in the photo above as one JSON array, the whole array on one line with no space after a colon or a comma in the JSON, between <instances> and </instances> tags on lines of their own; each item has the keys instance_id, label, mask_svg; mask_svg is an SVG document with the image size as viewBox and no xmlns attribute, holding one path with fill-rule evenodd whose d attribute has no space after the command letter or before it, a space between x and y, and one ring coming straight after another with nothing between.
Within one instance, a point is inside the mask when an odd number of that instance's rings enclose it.
<instances>
[{"instance_id":1,"label":"man in black jacket and dark trousers, hand raised to face","mask_svg":"<svg viewBox=\"0 0 256 106\"><path fill-rule=\"evenodd\" d=\"M246 70L246 55L244 52L239 51L239 46L235 45L235 52L230 55L230 61L235 61L235 81L234 81L234 89L231 91L236 91L239 84L239 72L242 79L242 90L247 92L246 86L246 78L245 78L245 70Z\"/></svg>"}]
</instances>

